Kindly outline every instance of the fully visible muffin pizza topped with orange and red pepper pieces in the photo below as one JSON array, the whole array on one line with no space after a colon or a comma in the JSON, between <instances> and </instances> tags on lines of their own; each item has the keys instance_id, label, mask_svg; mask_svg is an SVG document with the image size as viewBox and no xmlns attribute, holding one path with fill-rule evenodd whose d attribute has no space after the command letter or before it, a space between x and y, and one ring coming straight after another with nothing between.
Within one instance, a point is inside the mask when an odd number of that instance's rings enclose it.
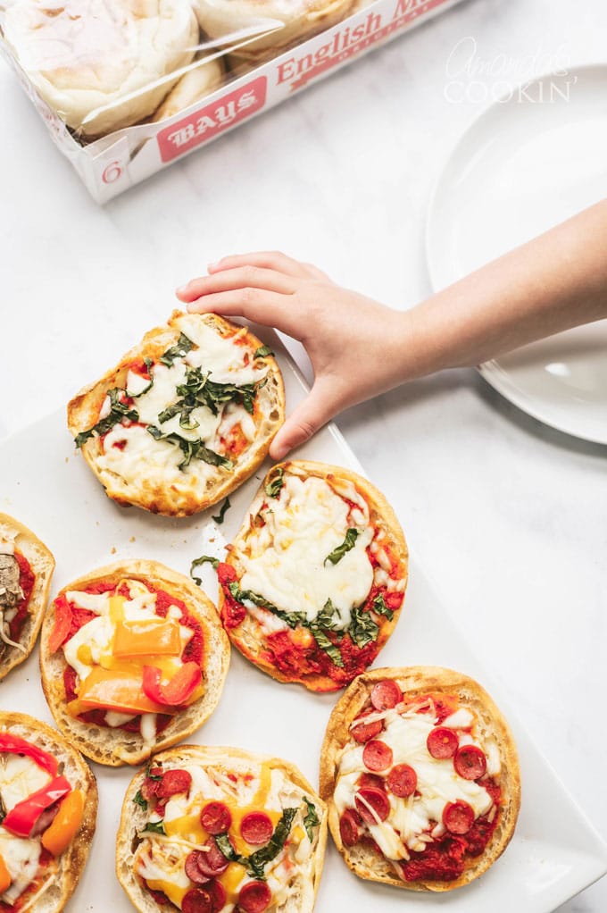
<instances>
[{"instance_id":1,"label":"fully visible muffin pizza topped with orange and red pepper pieces","mask_svg":"<svg viewBox=\"0 0 607 913\"><path fill-rule=\"evenodd\" d=\"M40 640L58 728L112 767L141 764L202 726L229 657L215 605L157 561L117 562L69 583L49 605Z\"/></svg>"}]
</instances>

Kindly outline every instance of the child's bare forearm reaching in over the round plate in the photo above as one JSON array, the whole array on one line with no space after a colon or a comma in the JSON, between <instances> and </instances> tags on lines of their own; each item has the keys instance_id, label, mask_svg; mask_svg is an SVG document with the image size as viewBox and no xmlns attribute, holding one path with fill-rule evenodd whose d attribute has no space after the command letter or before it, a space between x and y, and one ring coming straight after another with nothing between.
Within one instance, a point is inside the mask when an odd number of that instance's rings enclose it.
<instances>
[{"instance_id":1,"label":"child's bare forearm reaching in over the round plate","mask_svg":"<svg viewBox=\"0 0 607 913\"><path fill-rule=\"evenodd\" d=\"M403 314L402 380L607 317L607 201Z\"/></svg>"}]
</instances>

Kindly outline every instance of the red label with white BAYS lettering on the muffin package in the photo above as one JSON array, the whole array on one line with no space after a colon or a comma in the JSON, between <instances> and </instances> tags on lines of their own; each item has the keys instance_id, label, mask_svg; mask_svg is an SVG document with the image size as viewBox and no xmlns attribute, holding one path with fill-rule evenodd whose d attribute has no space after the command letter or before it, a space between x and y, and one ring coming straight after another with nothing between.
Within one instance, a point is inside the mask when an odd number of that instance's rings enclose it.
<instances>
[{"instance_id":1,"label":"red label with white BAYS lettering on the muffin package","mask_svg":"<svg viewBox=\"0 0 607 913\"><path fill-rule=\"evenodd\" d=\"M162 162L172 162L195 146L214 139L218 133L245 121L264 107L266 93L267 79L260 76L161 130L156 139Z\"/></svg>"}]
</instances>

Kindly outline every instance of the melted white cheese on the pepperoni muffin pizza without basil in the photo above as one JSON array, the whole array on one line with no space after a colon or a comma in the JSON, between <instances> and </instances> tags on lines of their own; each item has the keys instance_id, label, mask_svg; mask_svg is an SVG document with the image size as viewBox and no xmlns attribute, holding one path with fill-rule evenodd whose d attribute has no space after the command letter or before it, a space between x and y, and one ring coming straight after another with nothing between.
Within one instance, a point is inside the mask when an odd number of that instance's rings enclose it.
<instances>
[{"instance_id":1,"label":"melted white cheese on the pepperoni muffin pizza without basil","mask_svg":"<svg viewBox=\"0 0 607 913\"><path fill-rule=\"evenodd\" d=\"M456 773L453 759L436 759L430 755L426 742L436 725L433 714L410 711L400 715L393 709L386 711L383 719L384 730L378 738L392 749L392 764L413 767L420 794L402 799L388 792L388 818L370 824L369 830L386 858L406 859L407 848L416 851L424 848L420 837L430 830L431 822L442 823L447 803L466 802L478 817L491 809L493 800L481 783L465 780ZM465 711L461 719L469 726L473 718ZM472 735L464 732L459 741L460 744L475 744L491 756L490 740L487 744L478 745ZM354 741L342 750L335 790L335 804L340 814L346 808L355 806L356 782L361 772L366 770L362 761L363 750L364 746Z\"/></svg>"}]
</instances>

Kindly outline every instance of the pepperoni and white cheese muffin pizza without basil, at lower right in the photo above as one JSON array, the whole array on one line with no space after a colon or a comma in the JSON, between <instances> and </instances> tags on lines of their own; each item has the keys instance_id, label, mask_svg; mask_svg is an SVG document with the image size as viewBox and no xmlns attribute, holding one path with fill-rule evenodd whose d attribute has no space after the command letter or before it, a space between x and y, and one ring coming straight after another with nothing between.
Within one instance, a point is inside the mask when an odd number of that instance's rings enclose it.
<instances>
[{"instance_id":1,"label":"pepperoni and white cheese muffin pizza without basil, at lower right","mask_svg":"<svg viewBox=\"0 0 607 913\"><path fill-rule=\"evenodd\" d=\"M486 872L514 833L517 749L472 678L438 666L373 669L333 708L319 792L356 875L450 891Z\"/></svg>"}]
</instances>

